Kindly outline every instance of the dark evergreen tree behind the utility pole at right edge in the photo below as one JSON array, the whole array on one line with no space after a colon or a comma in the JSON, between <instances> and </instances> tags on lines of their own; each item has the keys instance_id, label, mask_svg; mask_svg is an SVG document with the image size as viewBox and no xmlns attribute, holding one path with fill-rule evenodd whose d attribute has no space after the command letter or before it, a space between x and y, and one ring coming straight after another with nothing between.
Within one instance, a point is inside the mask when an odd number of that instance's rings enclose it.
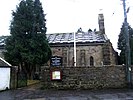
<instances>
[{"instance_id":1,"label":"dark evergreen tree behind the utility pole at right edge","mask_svg":"<svg viewBox=\"0 0 133 100\"><path fill-rule=\"evenodd\" d=\"M130 51L131 51L131 64L133 64L133 29L128 25L129 41L130 41ZM118 38L118 49L120 52L120 64L126 64L126 36L124 23L122 25L119 38Z\"/></svg>"}]
</instances>

